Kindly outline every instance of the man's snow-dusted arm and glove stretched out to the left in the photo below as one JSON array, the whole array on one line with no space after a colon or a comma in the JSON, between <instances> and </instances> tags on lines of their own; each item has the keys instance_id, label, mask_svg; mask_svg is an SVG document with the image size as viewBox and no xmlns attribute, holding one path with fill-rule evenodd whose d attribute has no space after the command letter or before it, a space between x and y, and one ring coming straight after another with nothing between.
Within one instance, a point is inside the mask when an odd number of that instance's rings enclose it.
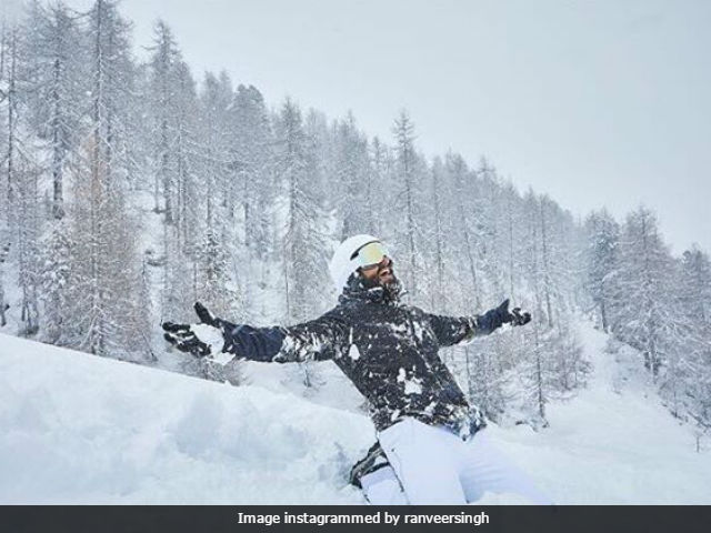
<instances>
[{"instance_id":1,"label":"man's snow-dusted arm and glove stretched out to the left","mask_svg":"<svg viewBox=\"0 0 711 533\"><path fill-rule=\"evenodd\" d=\"M196 356L224 359L232 354L250 361L288 363L337 358L342 350L344 326L326 314L319 319L289 328L253 328L234 324L210 313L196 303L199 323L162 324L164 339L172 345Z\"/></svg>"}]
</instances>

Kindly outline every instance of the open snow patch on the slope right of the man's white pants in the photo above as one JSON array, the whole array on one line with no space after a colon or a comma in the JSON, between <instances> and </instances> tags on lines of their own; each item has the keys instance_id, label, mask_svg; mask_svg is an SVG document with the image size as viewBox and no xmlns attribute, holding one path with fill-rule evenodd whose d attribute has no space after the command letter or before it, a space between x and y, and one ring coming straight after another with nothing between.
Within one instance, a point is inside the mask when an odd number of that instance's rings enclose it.
<instances>
[{"instance_id":1,"label":"open snow patch on the slope right of the man's white pants","mask_svg":"<svg viewBox=\"0 0 711 533\"><path fill-rule=\"evenodd\" d=\"M711 504L711 454L694 451L692 431L638 373L624 375L632 363L605 353L608 335L580 332L594 368L588 388L549 406L550 428L493 426L493 439L559 503Z\"/></svg>"}]
</instances>

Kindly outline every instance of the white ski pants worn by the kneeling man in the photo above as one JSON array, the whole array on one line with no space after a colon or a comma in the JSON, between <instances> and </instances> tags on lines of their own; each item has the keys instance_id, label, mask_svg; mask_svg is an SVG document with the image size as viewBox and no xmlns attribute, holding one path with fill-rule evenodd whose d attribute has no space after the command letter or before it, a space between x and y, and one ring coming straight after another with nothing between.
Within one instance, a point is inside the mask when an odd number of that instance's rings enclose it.
<instances>
[{"instance_id":1,"label":"white ski pants worn by the kneeling man","mask_svg":"<svg viewBox=\"0 0 711 533\"><path fill-rule=\"evenodd\" d=\"M404 419L380 432L390 466L361 477L374 505L457 505L485 492L513 493L531 503L552 503L480 431L468 441L444 428Z\"/></svg>"}]
</instances>

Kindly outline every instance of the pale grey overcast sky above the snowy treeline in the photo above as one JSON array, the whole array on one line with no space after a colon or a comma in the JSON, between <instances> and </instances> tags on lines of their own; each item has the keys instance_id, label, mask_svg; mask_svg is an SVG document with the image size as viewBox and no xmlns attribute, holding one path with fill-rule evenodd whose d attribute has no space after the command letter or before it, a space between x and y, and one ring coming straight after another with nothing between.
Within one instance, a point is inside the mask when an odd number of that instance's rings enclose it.
<instances>
[{"instance_id":1,"label":"pale grey overcast sky above the snowy treeline","mask_svg":"<svg viewBox=\"0 0 711 533\"><path fill-rule=\"evenodd\" d=\"M137 47L164 19L199 78L224 69L270 104L290 94L332 118L350 109L388 140L404 107L428 155L485 154L581 215L644 203L675 253L711 251L709 0L123 0L121 11Z\"/></svg>"}]
</instances>

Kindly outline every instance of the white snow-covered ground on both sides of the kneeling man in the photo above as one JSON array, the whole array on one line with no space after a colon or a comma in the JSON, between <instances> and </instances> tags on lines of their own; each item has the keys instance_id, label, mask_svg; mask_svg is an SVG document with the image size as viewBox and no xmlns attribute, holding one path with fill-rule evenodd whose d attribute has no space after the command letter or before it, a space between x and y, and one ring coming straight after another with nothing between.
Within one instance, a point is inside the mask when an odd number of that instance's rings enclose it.
<instances>
[{"instance_id":1,"label":"white snow-covered ground on both sides of the kneeling man","mask_svg":"<svg viewBox=\"0 0 711 533\"><path fill-rule=\"evenodd\" d=\"M492 424L491 439L559 503L710 504L711 454L582 329L588 389L549 405L549 429ZM346 474L368 419L268 386L0 334L0 503L363 503Z\"/></svg>"}]
</instances>

